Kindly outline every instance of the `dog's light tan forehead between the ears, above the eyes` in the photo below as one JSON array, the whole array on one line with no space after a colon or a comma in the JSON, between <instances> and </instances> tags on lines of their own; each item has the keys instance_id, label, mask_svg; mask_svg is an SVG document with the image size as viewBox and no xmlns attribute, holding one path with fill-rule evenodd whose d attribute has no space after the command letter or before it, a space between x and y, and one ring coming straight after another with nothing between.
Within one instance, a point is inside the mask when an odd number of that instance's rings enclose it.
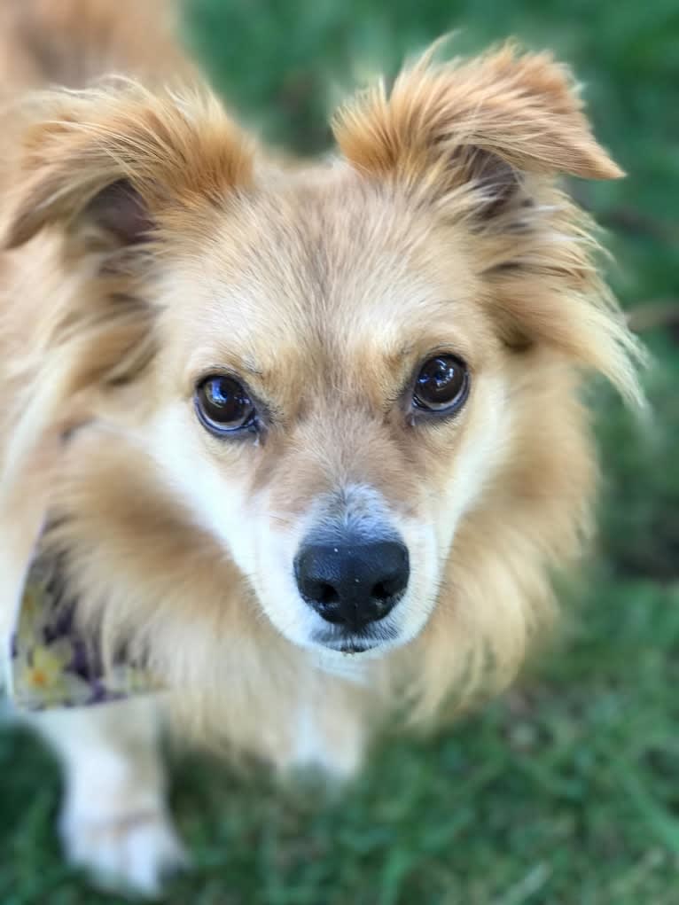
<instances>
[{"instance_id":1,"label":"dog's light tan forehead between the ears, above the eyes","mask_svg":"<svg viewBox=\"0 0 679 905\"><path fill-rule=\"evenodd\" d=\"M442 268L435 233L433 217L355 175L234 198L182 280L193 282L186 337L214 348L215 362L238 356L264 369L286 350L397 356L414 331L435 332L473 296L463 248L446 247Z\"/></svg>"}]
</instances>

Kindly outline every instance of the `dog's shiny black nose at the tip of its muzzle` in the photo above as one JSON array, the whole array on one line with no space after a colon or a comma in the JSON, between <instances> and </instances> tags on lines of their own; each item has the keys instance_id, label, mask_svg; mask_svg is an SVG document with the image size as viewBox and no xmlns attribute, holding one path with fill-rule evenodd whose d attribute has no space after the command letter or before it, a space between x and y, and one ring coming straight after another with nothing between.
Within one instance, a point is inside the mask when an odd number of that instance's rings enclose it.
<instances>
[{"instance_id":1,"label":"dog's shiny black nose at the tip of its muzzle","mask_svg":"<svg viewBox=\"0 0 679 905\"><path fill-rule=\"evenodd\" d=\"M295 559L304 600L323 619L354 632L387 615L409 574L407 548L397 540L305 544Z\"/></svg>"}]
</instances>

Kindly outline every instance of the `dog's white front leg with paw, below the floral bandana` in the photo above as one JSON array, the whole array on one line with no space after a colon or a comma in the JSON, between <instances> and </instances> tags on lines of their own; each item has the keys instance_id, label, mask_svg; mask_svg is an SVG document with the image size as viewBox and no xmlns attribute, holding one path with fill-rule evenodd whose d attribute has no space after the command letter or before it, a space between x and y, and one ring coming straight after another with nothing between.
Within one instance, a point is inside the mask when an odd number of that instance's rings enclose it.
<instances>
[{"instance_id":1,"label":"dog's white front leg with paw, below the floral bandana","mask_svg":"<svg viewBox=\"0 0 679 905\"><path fill-rule=\"evenodd\" d=\"M156 702L53 710L32 721L65 770L60 829L72 863L107 886L157 893L186 857L167 814Z\"/></svg>"}]
</instances>

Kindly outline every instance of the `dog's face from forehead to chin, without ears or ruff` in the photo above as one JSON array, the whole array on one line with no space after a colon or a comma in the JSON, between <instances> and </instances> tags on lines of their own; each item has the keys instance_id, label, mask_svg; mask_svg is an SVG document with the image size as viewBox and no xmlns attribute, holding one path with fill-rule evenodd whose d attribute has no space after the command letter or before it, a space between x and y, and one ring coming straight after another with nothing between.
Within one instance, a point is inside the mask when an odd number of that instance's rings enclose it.
<instances>
[{"instance_id":1,"label":"dog's face from forehead to chin, without ears or ruff","mask_svg":"<svg viewBox=\"0 0 679 905\"><path fill-rule=\"evenodd\" d=\"M339 172L234 199L158 287L161 472L291 641L406 643L506 444L464 232Z\"/></svg>"}]
</instances>

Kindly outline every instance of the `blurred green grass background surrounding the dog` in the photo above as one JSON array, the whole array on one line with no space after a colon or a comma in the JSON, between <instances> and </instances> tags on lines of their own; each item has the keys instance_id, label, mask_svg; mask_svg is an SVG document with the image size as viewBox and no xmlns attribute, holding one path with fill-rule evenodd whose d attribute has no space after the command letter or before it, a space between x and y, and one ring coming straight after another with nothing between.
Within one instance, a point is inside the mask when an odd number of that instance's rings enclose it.
<instances>
[{"instance_id":1,"label":"blurred green grass background surrounding the dog","mask_svg":"<svg viewBox=\"0 0 679 905\"><path fill-rule=\"evenodd\" d=\"M143 0L139 0L143 2ZM584 84L629 174L573 191L606 227L609 278L655 356L651 424L595 387L598 549L549 657L454 730L387 739L340 797L202 758L173 805L193 872L177 905L670 905L679 901L679 6L676 0L191 0L186 40L264 137L328 148L328 111L374 71L459 30L516 35ZM0 903L98 896L53 834L59 776L0 734Z\"/></svg>"}]
</instances>

